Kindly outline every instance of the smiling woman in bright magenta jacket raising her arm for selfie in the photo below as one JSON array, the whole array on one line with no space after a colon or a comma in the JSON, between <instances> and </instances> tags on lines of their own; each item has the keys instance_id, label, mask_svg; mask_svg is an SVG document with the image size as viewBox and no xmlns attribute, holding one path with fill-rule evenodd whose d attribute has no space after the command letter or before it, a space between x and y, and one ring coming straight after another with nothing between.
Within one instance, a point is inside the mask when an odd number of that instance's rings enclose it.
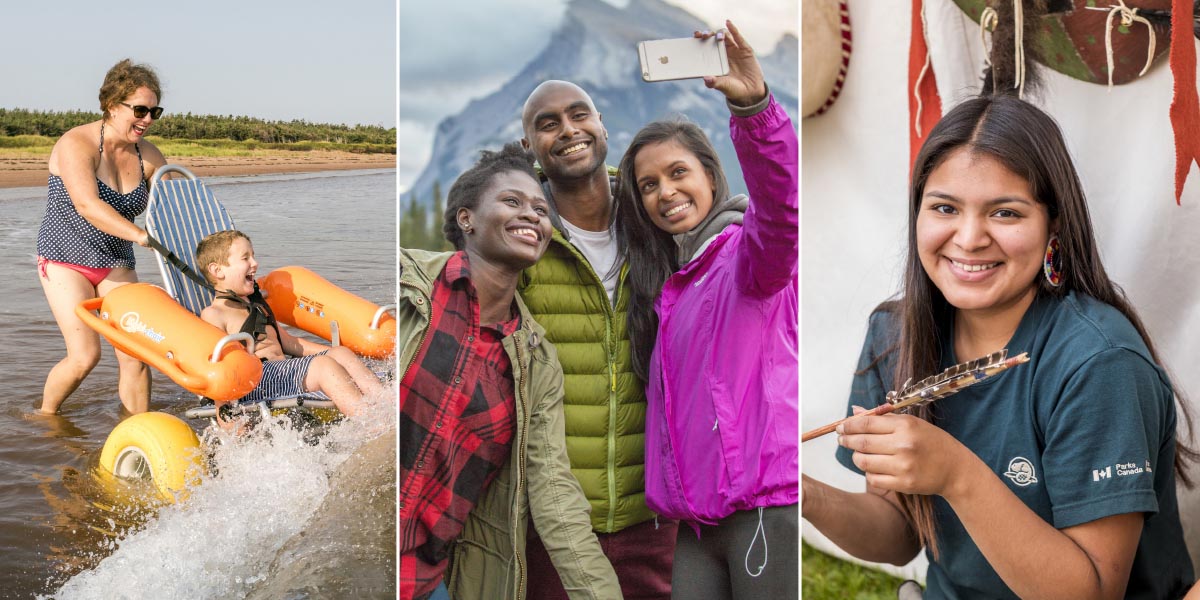
<instances>
[{"instance_id":1,"label":"smiling woman in bright magenta jacket raising her arm for selfie","mask_svg":"<svg viewBox=\"0 0 1200 600\"><path fill-rule=\"evenodd\" d=\"M647 383L646 499L691 526L679 528L674 598L797 598L798 144L727 25L730 74L704 84L733 113L750 198L730 197L689 122L643 127L620 161L614 227Z\"/></svg>"}]
</instances>

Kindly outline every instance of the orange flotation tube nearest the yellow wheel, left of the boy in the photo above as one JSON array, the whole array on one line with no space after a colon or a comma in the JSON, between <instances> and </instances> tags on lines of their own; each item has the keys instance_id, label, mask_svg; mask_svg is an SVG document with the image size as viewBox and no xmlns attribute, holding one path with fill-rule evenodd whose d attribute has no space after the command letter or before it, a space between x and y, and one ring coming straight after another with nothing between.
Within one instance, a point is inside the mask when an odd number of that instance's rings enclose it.
<instances>
[{"instance_id":1,"label":"orange flotation tube nearest the yellow wheel, left of the boy","mask_svg":"<svg viewBox=\"0 0 1200 600\"><path fill-rule=\"evenodd\" d=\"M84 300L76 314L121 352L217 402L241 398L263 378L263 364L236 341L247 334L227 336L157 286L121 286Z\"/></svg>"}]
</instances>

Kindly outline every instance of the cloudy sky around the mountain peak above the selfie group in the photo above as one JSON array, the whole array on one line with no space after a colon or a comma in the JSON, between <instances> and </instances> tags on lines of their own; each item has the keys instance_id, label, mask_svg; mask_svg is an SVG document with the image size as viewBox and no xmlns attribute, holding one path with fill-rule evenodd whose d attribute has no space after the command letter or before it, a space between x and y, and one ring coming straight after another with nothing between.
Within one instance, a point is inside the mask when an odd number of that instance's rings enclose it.
<instances>
[{"instance_id":1,"label":"cloudy sky around the mountain peak above the selfie group","mask_svg":"<svg viewBox=\"0 0 1200 600\"><path fill-rule=\"evenodd\" d=\"M517 74L550 42L568 0L400 0L401 192L430 158L433 133L445 116L487 96ZM628 0L606 0L626 6ZM799 31L798 0L666 0L722 26L733 20L758 53L770 53L785 32ZM690 35L682 31L679 37ZM480 52L486 41L487 52ZM448 70L446 65L455 65Z\"/></svg>"}]
</instances>

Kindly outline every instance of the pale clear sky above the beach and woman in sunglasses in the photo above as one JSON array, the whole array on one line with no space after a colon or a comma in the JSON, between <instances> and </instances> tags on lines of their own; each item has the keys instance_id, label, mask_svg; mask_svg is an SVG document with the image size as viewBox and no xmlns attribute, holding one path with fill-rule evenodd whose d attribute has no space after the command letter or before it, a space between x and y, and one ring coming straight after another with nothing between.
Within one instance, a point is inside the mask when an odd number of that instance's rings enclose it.
<instances>
[{"instance_id":1,"label":"pale clear sky above the beach and woman in sunglasses","mask_svg":"<svg viewBox=\"0 0 1200 600\"><path fill-rule=\"evenodd\" d=\"M12 1L0 108L98 112L104 73L158 73L168 113L396 125L392 0Z\"/></svg>"}]
</instances>

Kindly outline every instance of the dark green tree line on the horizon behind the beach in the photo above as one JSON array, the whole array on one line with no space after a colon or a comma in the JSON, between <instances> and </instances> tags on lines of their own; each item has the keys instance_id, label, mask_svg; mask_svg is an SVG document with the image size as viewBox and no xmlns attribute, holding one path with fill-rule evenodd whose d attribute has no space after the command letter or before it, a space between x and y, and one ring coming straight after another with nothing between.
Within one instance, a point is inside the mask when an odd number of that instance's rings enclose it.
<instances>
[{"instance_id":1,"label":"dark green tree line on the horizon behind the beach","mask_svg":"<svg viewBox=\"0 0 1200 600\"><path fill-rule=\"evenodd\" d=\"M58 138L71 127L100 119L86 110L28 110L0 108L0 136L46 136ZM378 125L330 125L292 121L268 121L252 116L164 114L155 121L154 133L167 139L233 139L265 144L331 142L335 144L379 144L395 152L396 128Z\"/></svg>"}]
</instances>

